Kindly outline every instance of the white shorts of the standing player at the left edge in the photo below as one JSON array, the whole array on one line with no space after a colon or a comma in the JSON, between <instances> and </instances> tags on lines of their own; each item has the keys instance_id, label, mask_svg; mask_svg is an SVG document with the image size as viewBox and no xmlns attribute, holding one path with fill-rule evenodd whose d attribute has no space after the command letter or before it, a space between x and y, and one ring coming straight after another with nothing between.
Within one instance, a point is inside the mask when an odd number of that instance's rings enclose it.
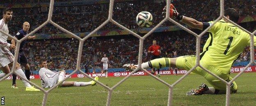
<instances>
[{"instance_id":1,"label":"white shorts of the standing player at the left edge","mask_svg":"<svg viewBox=\"0 0 256 106\"><path fill-rule=\"evenodd\" d=\"M14 62L14 55L6 47L0 47L0 67L7 66Z\"/></svg>"}]
</instances>

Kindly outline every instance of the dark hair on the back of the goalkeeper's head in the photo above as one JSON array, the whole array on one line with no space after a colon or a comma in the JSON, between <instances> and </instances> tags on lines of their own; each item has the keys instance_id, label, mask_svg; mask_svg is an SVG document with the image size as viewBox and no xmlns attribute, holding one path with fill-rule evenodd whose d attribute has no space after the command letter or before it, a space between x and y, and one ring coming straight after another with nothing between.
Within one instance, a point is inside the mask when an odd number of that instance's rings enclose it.
<instances>
[{"instance_id":1,"label":"dark hair on the back of the goalkeeper's head","mask_svg":"<svg viewBox=\"0 0 256 106\"><path fill-rule=\"evenodd\" d=\"M228 16L229 15L229 20L237 23L238 22L238 19L239 19L239 13L238 11L236 11L234 8L229 8L229 9L226 9L225 12L224 12L224 15L225 16Z\"/></svg>"}]
</instances>

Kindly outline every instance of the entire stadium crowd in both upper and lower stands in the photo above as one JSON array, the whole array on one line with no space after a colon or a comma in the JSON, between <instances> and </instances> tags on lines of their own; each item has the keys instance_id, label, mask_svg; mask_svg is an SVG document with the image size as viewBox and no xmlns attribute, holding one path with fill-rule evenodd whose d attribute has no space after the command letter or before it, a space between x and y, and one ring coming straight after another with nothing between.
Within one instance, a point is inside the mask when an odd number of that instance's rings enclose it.
<instances>
[{"instance_id":1,"label":"entire stadium crowd in both upper and lower stands","mask_svg":"<svg viewBox=\"0 0 256 106\"><path fill-rule=\"evenodd\" d=\"M12 0L18 3L21 0ZM49 0L23 0L24 2L48 2ZM57 0L57 2L68 0ZM176 9L188 17L195 18L199 21L214 20L219 15L219 0L174 0L173 4ZM9 3L5 0L0 4ZM240 4L240 7L236 6ZM188 4L186 9L183 5ZM162 18L162 8L165 6L163 0L140 0L129 1L114 4L113 19L127 27L128 29L138 29L135 23L135 17L140 11L149 11L154 17L154 23L159 23ZM152 8L153 7L153 8ZM241 16L255 15L255 0L225 0L225 8L238 9ZM53 22L56 22L65 29L73 33L90 32L101 23L107 20L108 4L94 4L72 7L54 7ZM188 10L188 11L187 11ZM216 11L217 10L217 11ZM2 9L0 9L2 12ZM31 29L39 27L48 18L48 7L41 8L14 8L13 20L8 24L9 32L15 34L21 29L23 21L30 22ZM131 12L133 11L133 12ZM22 21L21 21L22 20ZM255 24L255 23L254 23ZM153 27L156 24L153 24ZM171 22L165 22L162 26L174 25ZM246 26L246 25L245 25ZM111 31L120 29L109 22L101 31ZM254 31L256 27L246 27ZM47 24L37 31L37 33L58 34L63 33L61 30ZM197 32L199 33L199 32ZM204 44L208 36L204 36L201 44ZM152 40L157 40L162 47L162 57L173 57L176 52L178 56L195 54L195 37L184 31L171 31L162 33L153 33L144 41L143 61L148 61L150 55L147 48L152 44ZM75 69L78 53L78 40L71 39L50 39L50 40L29 40L25 53L29 61L35 62L34 68L38 70L38 62L41 57L46 57L49 61L51 70ZM201 48L203 45L201 45ZM34 60L28 54L33 50ZM137 63L139 50L139 41L131 35L111 36L111 37L93 37L87 40L83 46L81 68L101 68L100 59L106 53L110 60L111 68L120 68L125 63ZM202 49L201 49L202 50ZM237 62L249 60L249 47L236 60Z\"/></svg>"}]
</instances>

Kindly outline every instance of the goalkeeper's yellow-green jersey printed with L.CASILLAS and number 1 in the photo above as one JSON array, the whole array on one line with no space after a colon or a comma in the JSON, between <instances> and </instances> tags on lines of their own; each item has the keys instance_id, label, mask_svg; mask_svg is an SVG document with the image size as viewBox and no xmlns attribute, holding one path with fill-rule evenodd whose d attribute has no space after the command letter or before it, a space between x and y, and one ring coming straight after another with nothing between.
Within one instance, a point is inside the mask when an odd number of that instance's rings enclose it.
<instances>
[{"instance_id":1,"label":"goalkeeper's yellow-green jersey printed with L.CASILLAS and number 1","mask_svg":"<svg viewBox=\"0 0 256 106\"><path fill-rule=\"evenodd\" d=\"M214 21L208 22L212 24ZM250 45L250 35L234 24L219 20L208 32L209 38L200 54L200 63L216 66L229 73L233 62L238 59L245 46ZM254 36L254 46L256 38Z\"/></svg>"}]
</instances>

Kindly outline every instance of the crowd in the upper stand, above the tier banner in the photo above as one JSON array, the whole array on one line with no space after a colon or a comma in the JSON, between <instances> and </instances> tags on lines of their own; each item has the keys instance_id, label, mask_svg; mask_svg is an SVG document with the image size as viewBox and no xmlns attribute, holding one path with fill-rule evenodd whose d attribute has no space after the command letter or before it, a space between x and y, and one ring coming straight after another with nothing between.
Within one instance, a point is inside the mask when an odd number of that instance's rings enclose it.
<instances>
[{"instance_id":1,"label":"crowd in the upper stand, above the tier banner","mask_svg":"<svg viewBox=\"0 0 256 106\"><path fill-rule=\"evenodd\" d=\"M9 2L8 0L4 0ZM20 1L20 0L14 0ZM24 0L32 2L47 2L49 0ZM57 0L67 1L67 0ZM2 3L2 2L1 2ZM176 9L188 17L195 18L199 21L214 20L219 16L219 0L174 0L172 2ZM237 7L237 3L239 7ZM186 8L183 5L189 4ZM153 8L152 8L153 6ZM113 19L127 27L128 29L138 29L135 23L135 17L140 11L149 11L153 15L153 27L159 23L162 18L162 8L165 6L163 0L139 0L129 2L119 2L114 4ZM238 9L241 16L255 15L255 0L225 0L225 8L232 7ZM109 4L94 4L72 7L54 7L53 21L73 33L90 32L108 17ZM2 11L2 9L1 9ZM41 8L14 8L13 20L9 23L10 33L14 34L24 21L30 22L32 29L37 28L48 18L48 7ZM165 22L162 26L174 25L171 22ZM111 22L106 24L101 31L120 29ZM47 24L37 33L57 34L63 33L61 30Z\"/></svg>"}]
</instances>

